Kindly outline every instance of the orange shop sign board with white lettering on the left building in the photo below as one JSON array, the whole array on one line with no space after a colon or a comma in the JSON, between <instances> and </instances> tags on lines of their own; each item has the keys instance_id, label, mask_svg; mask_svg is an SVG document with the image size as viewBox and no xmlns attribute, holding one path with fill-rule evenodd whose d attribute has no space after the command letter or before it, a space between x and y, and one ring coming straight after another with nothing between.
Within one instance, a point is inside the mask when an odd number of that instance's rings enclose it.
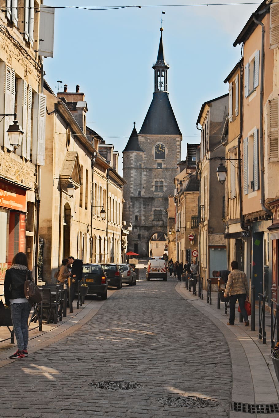
<instances>
[{"instance_id":1,"label":"orange shop sign board with white lettering on the left building","mask_svg":"<svg viewBox=\"0 0 279 418\"><path fill-rule=\"evenodd\" d=\"M0 207L26 212L26 190L0 181Z\"/></svg>"}]
</instances>

